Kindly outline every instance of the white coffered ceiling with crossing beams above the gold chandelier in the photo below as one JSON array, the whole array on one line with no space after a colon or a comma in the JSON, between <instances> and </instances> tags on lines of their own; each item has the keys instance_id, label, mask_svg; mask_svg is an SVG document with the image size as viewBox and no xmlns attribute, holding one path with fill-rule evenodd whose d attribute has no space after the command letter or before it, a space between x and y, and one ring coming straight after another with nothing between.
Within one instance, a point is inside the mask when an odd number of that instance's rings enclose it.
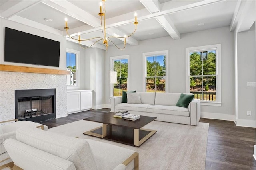
<instances>
[{"instance_id":1,"label":"white coffered ceiling with crossing beams above the gold chandelier","mask_svg":"<svg viewBox=\"0 0 256 170\"><path fill-rule=\"evenodd\" d=\"M16 21L50 33L66 36L64 18L68 18L70 35L87 39L103 37L98 13L100 0L1 0L0 17ZM138 41L230 26L240 0L106 0L106 33L109 36L130 35L134 31L134 13L138 17L137 30L126 39L130 45ZM50 18L52 21L46 21ZM68 40L70 40L68 38ZM71 40L70 40L71 41ZM123 40L112 39L117 45ZM92 45L95 41L82 41ZM112 45L109 43L109 45ZM102 41L93 47L105 49Z\"/></svg>"}]
</instances>

